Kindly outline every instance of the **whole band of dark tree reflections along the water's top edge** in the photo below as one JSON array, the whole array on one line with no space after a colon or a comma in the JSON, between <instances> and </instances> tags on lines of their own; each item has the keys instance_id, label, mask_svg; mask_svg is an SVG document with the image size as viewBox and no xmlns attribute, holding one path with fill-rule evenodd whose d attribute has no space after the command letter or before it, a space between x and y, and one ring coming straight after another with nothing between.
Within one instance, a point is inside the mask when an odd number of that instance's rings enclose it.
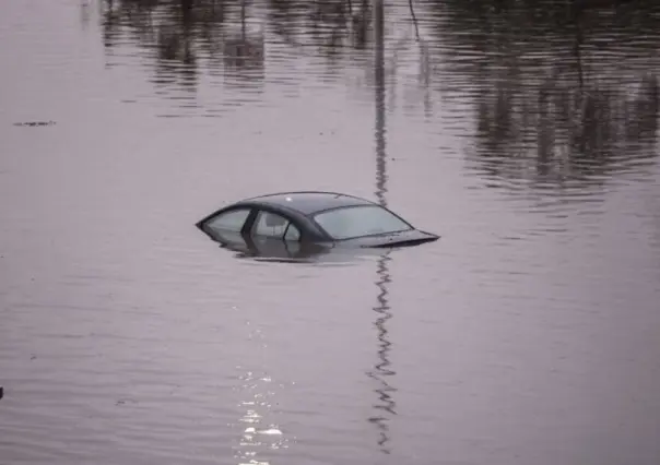
<instances>
[{"instance_id":1,"label":"whole band of dark tree reflections along the water's top edge","mask_svg":"<svg viewBox=\"0 0 660 465\"><path fill-rule=\"evenodd\" d=\"M471 99L475 107L474 160L499 178L584 181L648 160L657 143L653 72L659 65L660 15L653 13L660 7L626 3L390 2L386 19L397 24L381 31L391 44L384 51L388 55L384 81L391 90L388 105L396 105L403 87L406 98L423 95L431 116L434 91L455 86L460 98ZM118 53L122 43L141 44L144 57L155 63L151 68L158 86L195 88L204 67L211 74L220 70L233 85L260 86L263 37L246 24L263 12L269 33L275 35L271 41L284 41L292 55L313 57L315 65L322 59L325 78L363 63L366 80L345 79L373 87L379 78L374 56L365 51L378 34L375 4L375 0L105 0L104 40L108 52ZM421 15L429 20L417 27ZM414 47L401 34L399 20L404 16L415 26ZM412 53L419 58L419 79L398 79ZM440 62L441 74L434 72L438 68L434 63Z\"/></svg>"}]
</instances>

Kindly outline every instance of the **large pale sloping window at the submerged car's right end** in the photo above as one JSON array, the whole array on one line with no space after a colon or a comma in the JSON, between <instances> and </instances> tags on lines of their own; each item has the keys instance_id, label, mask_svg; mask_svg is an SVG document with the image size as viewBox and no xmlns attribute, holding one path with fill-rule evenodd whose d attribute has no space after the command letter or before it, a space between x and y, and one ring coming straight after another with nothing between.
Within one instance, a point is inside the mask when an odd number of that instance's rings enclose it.
<instances>
[{"instance_id":1,"label":"large pale sloping window at the submerged car's right end","mask_svg":"<svg viewBox=\"0 0 660 465\"><path fill-rule=\"evenodd\" d=\"M412 229L403 219L378 205L333 208L318 213L314 219L333 239L353 239Z\"/></svg>"}]
</instances>

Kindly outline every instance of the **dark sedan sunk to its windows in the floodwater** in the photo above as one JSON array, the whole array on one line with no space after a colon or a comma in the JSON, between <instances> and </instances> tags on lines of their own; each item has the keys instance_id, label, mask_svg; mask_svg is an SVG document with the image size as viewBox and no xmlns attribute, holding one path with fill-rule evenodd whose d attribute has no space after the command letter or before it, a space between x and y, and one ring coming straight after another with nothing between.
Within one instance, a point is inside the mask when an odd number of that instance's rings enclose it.
<instances>
[{"instance_id":1,"label":"dark sedan sunk to its windows in the floodwater","mask_svg":"<svg viewBox=\"0 0 660 465\"><path fill-rule=\"evenodd\" d=\"M398 248L438 239L388 208L337 192L280 192L241 200L196 225L211 239L250 255L290 258L330 249Z\"/></svg>"}]
</instances>

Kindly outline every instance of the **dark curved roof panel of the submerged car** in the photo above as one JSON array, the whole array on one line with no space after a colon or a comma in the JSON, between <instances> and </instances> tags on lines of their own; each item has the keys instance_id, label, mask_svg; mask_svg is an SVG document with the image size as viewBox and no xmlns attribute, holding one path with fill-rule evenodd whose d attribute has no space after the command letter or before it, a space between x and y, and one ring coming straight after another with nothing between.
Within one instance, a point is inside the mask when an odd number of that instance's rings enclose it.
<instances>
[{"instance_id":1,"label":"dark curved roof panel of the submerged car","mask_svg":"<svg viewBox=\"0 0 660 465\"><path fill-rule=\"evenodd\" d=\"M304 215L313 215L323 210L343 206L377 205L374 202L354 195L322 191L278 192L246 199L241 202L280 206L298 211Z\"/></svg>"}]
</instances>

